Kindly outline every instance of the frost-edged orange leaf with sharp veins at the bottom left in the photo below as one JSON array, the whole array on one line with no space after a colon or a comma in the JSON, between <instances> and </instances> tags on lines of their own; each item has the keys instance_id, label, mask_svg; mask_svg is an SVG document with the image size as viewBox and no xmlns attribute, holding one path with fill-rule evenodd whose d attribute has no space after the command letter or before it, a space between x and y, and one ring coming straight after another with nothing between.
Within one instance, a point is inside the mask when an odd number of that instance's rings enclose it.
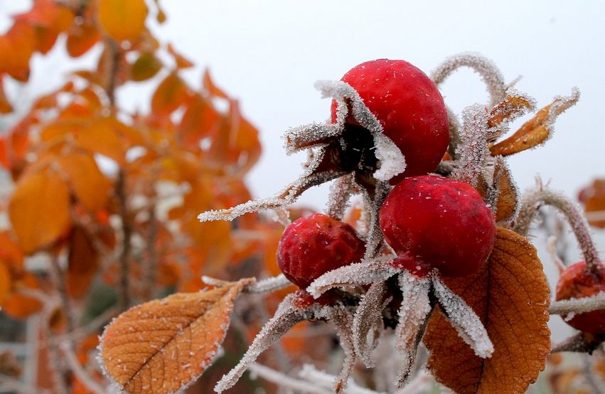
<instances>
[{"instance_id":1,"label":"frost-edged orange leaf with sharp veins at the bottom left","mask_svg":"<svg viewBox=\"0 0 605 394\"><path fill-rule=\"evenodd\" d=\"M124 312L101 339L107 375L128 393L174 393L196 380L225 339L233 302L248 283L177 293Z\"/></svg>"}]
</instances>

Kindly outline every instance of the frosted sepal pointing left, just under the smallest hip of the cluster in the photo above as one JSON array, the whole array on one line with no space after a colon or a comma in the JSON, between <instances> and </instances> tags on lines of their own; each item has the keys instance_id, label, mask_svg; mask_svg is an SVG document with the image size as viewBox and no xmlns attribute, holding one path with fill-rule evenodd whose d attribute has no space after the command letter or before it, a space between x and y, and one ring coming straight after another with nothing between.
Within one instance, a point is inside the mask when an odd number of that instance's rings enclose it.
<instances>
[{"instance_id":1,"label":"frosted sepal pointing left, just under the smallest hip of the cluster","mask_svg":"<svg viewBox=\"0 0 605 394\"><path fill-rule=\"evenodd\" d=\"M372 284L397 275L400 270L389 264L390 258L364 260L326 272L315 279L306 291L314 298L335 287L349 287L355 284Z\"/></svg>"}]
</instances>

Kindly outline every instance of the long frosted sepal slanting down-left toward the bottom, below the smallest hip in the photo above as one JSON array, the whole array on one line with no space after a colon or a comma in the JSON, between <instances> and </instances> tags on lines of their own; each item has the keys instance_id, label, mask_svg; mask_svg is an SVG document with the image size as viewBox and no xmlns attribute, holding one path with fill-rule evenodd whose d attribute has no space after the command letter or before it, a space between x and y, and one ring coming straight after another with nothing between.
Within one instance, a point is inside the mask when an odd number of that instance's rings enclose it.
<instances>
[{"instance_id":1,"label":"long frosted sepal slanting down-left toward the bottom, below the smallest hip","mask_svg":"<svg viewBox=\"0 0 605 394\"><path fill-rule=\"evenodd\" d=\"M216 383L214 387L215 392L222 393L232 388L237 383L237 380L240 380L248 366L256 361L260 353L266 351L269 346L282 338L284 334L300 321L311 319L314 316L312 308L299 309L294 307L292 305L292 297L293 295L289 294L284 298L273 318L267 321L267 324L262 327L262 330L257 334L254 341L252 341L252 344L240 362L237 363L237 366Z\"/></svg>"}]
</instances>

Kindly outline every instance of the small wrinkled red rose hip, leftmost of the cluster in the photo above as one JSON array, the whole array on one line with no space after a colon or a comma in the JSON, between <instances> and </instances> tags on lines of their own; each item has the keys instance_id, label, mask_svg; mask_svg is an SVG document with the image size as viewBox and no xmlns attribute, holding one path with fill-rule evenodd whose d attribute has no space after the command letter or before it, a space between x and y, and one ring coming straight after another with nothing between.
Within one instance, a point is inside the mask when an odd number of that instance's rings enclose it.
<instances>
[{"instance_id":1,"label":"small wrinkled red rose hip, leftmost of the cluster","mask_svg":"<svg viewBox=\"0 0 605 394\"><path fill-rule=\"evenodd\" d=\"M290 282L305 289L326 272L361 261L363 252L365 244L350 225L315 213L286 228L277 264Z\"/></svg>"}]
</instances>

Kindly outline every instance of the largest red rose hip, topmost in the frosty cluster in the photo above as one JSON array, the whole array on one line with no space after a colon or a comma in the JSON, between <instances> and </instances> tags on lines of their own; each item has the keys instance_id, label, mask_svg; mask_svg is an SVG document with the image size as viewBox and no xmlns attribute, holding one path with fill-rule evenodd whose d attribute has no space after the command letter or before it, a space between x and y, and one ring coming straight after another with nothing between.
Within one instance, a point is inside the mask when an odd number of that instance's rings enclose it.
<instances>
[{"instance_id":1,"label":"largest red rose hip, topmost in the frosty cluster","mask_svg":"<svg viewBox=\"0 0 605 394\"><path fill-rule=\"evenodd\" d=\"M378 59L355 66L342 80L359 93L405 156L405 171L393 184L437 168L449 144L449 122L441 93L422 70L405 60ZM336 122L335 101L331 112ZM358 126L352 116L346 123Z\"/></svg>"}]
</instances>

